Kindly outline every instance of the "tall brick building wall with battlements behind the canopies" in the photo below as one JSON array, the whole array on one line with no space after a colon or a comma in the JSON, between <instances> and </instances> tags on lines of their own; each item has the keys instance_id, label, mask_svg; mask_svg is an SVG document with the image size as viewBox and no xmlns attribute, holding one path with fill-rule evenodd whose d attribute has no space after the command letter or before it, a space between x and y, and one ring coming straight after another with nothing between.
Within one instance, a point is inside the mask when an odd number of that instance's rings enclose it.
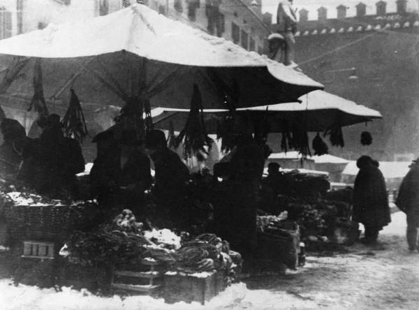
<instances>
[{"instance_id":1,"label":"tall brick building wall with battlements behind the canopies","mask_svg":"<svg viewBox=\"0 0 419 310\"><path fill-rule=\"evenodd\" d=\"M370 154L379 160L419 156L419 16L406 10L406 0L396 1L388 12L386 2L376 3L376 13L366 15L366 5L346 17L318 8L318 19L308 20L300 10L296 34L296 62L325 90L379 110L382 120L344 128L346 146L332 147L338 156L355 159ZM343 3L345 4L345 3ZM372 133L373 144L360 144L362 131Z\"/></svg>"}]
</instances>

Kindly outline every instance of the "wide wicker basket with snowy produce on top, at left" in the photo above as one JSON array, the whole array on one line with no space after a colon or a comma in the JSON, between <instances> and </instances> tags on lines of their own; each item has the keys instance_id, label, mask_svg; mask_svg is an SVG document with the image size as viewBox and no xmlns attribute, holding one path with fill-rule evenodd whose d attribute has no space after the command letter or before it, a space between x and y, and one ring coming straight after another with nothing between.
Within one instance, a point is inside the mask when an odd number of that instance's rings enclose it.
<instances>
[{"instance_id":1,"label":"wide wicker basket with snowy produce on top, at left","mask_svg":"<svg viewBox=\"0 0 419 310\"><path fill-rule=\"evenodd\" d=\"M10 240L64 241L69 232L92 223L98 207L93 202L78 205L3 205Z\"/></svg>"}]
</instances>

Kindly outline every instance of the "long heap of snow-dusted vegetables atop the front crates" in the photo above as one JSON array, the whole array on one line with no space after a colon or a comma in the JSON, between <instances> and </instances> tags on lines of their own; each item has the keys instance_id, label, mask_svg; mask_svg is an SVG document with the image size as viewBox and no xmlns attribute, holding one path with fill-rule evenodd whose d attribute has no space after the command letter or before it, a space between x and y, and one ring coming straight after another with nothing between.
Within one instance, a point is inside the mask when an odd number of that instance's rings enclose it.
<instances>
[{"instance_id":1,"label":"long heap of snow-dusted vegetables atop the front crates","mask_svg":"<svg viewBox=\"0 0 419 310\"><path fill-rule=\"evenodd\" d=\"M128 209L112 224L94 232L75 232L66 242L69 257L89 261L91 265L140 264L152 259L167 271L196 274L223 271L230 280L241 270L241 256L230 251L228 242L214 234L191 239L168 229L142 230L142 223Z\"/></svg>"}]
</instances>

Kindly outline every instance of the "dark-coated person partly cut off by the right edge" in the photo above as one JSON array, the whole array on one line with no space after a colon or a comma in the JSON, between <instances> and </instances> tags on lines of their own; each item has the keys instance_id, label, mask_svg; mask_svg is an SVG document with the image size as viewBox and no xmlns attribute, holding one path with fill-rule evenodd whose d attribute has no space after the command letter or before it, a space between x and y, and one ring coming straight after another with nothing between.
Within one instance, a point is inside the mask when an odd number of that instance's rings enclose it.
<instances>
[{"instance_id":1,"label":"dark-coated person partly cut off by the right edge","mask_svg":"<svg viewBox=\"0 0 419 310\"><path fill-rule=\"evenodd\" d=\"M406 213L406 239L410 251L418 250L419 227L419 158L410 165L397 195L396 205Z\"/></svg>"}]
</instances>

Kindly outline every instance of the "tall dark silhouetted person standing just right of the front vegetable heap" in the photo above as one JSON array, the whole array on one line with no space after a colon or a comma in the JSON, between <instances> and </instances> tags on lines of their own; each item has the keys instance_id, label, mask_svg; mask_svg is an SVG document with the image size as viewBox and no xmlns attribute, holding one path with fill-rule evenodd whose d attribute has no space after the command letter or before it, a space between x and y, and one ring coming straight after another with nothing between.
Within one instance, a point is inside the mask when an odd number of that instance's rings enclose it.
<instances>
[{"instance_id":1,"label":"tall dark silhouetted person standing just right of the front vegetable heap","mask_svg":"<svg viewBox=\"0 0 419 310\"><path fill-rule=\"evenodd\" d=\"M228 168L223 172L228 179L222 184L224 195L214 209L214 221L219 235L242 253L250 266L256 249L256 207L265 153L249 133L242 133L228 156Z\"/></svg>"}]
</instances>

